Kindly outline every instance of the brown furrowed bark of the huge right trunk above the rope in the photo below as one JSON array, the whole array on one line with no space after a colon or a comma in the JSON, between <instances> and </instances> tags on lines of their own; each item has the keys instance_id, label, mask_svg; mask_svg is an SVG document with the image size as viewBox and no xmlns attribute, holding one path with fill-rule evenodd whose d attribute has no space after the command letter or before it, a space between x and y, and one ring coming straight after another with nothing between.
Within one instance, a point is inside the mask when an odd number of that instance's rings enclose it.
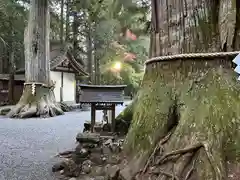
<instances>
[{"instance_id":1,"label":"brown furrowed bark of the huge right trunk above the rope","mask_svg":"<svg viewBox=\"0 0 240 180\"><path fill-rule=\"evenodd\" d=\"M236 7L232 7L231 11L232 2L234 1L152 0L150 57L216 52L222 50L225 43L229 49L233 43L236 22ZM227 14L229 15L226 16Z\"/></svg>"}]
</instances>

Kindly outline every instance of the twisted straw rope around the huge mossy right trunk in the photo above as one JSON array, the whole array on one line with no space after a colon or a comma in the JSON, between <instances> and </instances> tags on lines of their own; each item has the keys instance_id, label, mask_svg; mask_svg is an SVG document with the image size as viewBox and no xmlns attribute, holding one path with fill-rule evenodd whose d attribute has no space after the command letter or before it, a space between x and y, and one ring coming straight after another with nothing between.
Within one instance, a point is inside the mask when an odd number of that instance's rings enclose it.
<instances>
[{"instance_id":1,"label":"twisted straw rope around the huge mossy right trunk","mask_svg":"<svg viewBox=\"0 0 240 180\"><path fill-rule=\"evenodd\" d=\"M155 62L167 61L167 60L186 60L186 59L212 59L221 57L232 57L236 56L240 51L233 52L215 52L215 53L189 53L189 54L177 54L168 56L153 57L145 62L145 65L149 65Z\"/></svg>"}]
</instances>

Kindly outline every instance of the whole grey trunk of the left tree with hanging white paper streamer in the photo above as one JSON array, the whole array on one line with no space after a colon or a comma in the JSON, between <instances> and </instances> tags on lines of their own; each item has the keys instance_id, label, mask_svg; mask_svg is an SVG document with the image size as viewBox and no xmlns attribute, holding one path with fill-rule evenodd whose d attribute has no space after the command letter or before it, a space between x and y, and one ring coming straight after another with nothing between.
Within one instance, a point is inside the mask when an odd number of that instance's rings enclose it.
<instances>
[{"instance_id":1,"label":"whole grey trunk of the left tree with hanging white paper streamer","mask_svg":"<svg viewBox=\"0 0 240 180\"><path fill-rule=\"evenodd\" d=\"M25 87L8 116L48 117L63 114L50 81L50 15L48 0L32 0L25 31Z\"/></svg>"}]
</instances>

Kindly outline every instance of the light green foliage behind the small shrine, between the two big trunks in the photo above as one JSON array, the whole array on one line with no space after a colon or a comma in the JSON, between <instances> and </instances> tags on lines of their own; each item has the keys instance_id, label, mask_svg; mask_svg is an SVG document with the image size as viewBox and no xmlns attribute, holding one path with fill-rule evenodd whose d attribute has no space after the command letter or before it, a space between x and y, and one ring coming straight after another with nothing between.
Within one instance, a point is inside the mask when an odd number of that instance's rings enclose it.
<instances>
[{"instance_id":1,"label":"light green foliage behind the small shrine, between the two big trunks","mask_svg":"<svg viewBox=\"0 0 240 180\"><path fill-rule=\"evenodd\" d=\"M94 60L100 64L101 83L127 84L128 94L136 91L143 75L143 64L149 49L149 37L146 34L145 22L149 5L139 5L131 1L125 3L103 0L101 3L94 1L94 4L92 1L83 1L76 4L76 9L85 13L81 22L84 25L80 25L85 32L82 33L83 36L86 37L91 30ZM127 29L138 36L136 40L126 38ZM82 49L84 45L83 42ZM85 54L87 53L85 52ZM125 61L125 53L132 53L136 58ZM122 63L121 72L111 71L115 62ZM95 70L97 68L95 67Z\"/></svg>"}]
</instances>

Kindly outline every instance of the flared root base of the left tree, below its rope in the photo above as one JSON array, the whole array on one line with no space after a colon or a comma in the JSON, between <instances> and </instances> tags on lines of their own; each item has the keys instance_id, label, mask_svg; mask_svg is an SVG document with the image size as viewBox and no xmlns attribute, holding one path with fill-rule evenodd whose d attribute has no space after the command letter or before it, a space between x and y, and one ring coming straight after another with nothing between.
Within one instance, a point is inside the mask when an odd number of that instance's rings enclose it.
<instances>
[{"instance_id":1,"label":"flared root base of the left tree, below its rope","mask_svg":"<svg viewBox=\"0 0 240 180\"><path fill-rule=\"evenodd\" d=\"M25 86L23 95L18 104L7 114L11 118L54 117L62 115L63 111L55 101L51 88L36 86L32 94L30 85Z\"/></svg>"}]
</instances>

